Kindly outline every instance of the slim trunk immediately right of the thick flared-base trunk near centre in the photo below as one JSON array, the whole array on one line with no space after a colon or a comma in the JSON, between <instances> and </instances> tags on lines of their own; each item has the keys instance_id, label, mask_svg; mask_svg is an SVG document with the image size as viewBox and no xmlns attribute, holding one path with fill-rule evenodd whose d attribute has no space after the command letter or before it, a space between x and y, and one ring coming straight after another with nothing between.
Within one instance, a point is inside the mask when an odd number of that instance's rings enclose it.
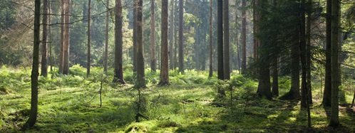
<instances>
[{"instance_id":1,"label":"slim trunk immediately right of the thick flared-base trunk near centre","mask_svg":"<svg viewBox=\"0 0 355 133\"><path fill-rule=\"evenodd\" d=\"M169 32L169 68L171 70L174 69L174 51L173 51L173 43L174 43L174 0L170 1L171 9L170 9L170 32Z\"/></svg>"}]
</instances>

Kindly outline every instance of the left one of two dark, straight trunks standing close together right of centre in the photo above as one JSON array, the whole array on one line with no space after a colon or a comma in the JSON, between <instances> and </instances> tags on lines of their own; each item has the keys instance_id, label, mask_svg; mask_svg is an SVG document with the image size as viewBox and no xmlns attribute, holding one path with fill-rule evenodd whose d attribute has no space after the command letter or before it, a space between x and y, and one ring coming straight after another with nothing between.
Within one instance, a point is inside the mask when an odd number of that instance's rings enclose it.
<instances>
[{"instance_id":1,"label":"left one of two dark, straight trunks standing close together right of centre","mask_svg":"<svg viewBox=\"0 0 355 133\"><path fill-rule=\"evenodd\" d=\"M225 80L223 67L223 1L217 1L217 69L218 79Z\"/></svg>"}]
</instances>

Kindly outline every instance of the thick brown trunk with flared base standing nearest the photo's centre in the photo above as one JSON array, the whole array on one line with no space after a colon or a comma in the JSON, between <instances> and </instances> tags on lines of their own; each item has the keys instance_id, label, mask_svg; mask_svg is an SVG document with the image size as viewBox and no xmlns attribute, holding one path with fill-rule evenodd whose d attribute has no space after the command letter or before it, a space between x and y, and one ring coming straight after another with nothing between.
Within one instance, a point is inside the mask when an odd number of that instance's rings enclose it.
<instances>
[{"instance_id":1,"label":"thick brown trunk with flared base standing nearest the photo's centre","mask_svg":"<svg viewBox=\"0 0 355 133\"><path fill-rule=\"evenodd\" d=\"M168 0L162 1L161 72L159 85L170 85L168 60Z\"/></svg>"}]
</instances>

